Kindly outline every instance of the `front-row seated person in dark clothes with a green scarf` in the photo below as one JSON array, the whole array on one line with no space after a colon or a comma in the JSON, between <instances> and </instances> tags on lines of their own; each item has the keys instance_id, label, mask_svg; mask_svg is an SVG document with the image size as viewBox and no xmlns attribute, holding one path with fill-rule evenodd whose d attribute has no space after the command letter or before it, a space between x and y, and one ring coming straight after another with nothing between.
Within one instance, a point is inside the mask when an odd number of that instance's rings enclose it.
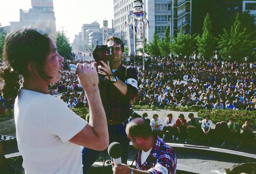
<instances>
[{"instance_id":1,"label":"front-row seated person in dark clothes with a green scarf","mask_svg":"<svg viewBox=\"0 0 256 174\"><path fill-rule=\"evenodd\" d=\"M227 142L236 142L236 146L239 147L239 141L240 141L240 127L237 123L234 122L233 118L229 119L228 125L228 131L226 134L226 140L222 143L222 146L224 146Z\"/></svg>"}]
</instances>

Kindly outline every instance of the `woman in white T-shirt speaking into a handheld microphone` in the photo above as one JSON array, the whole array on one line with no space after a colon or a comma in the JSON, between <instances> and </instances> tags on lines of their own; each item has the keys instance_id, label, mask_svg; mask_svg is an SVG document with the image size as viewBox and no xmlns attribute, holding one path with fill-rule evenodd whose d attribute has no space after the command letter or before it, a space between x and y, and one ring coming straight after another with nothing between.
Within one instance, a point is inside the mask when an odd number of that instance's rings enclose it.
<instances>
[{"instance_id":1,"label":"woman in white T-shirt speaking into a handheld microphone","mask_svg":"<svg viewBox=\"0 0 256 174\"><path fill-rule=\"evenodd\" d=\"M77 64L79 81L90 106L87 123L61 99L48 94L48 85L60 80L64 61L51 38L34 29L9 32L3 59L1 90L6 98L17 96L14 119L25 173L81 174L81 146L94 150L108 146L107 121L95 67ZM21 89L20 75L24 79Z\"/></svg>"}]
</instances>

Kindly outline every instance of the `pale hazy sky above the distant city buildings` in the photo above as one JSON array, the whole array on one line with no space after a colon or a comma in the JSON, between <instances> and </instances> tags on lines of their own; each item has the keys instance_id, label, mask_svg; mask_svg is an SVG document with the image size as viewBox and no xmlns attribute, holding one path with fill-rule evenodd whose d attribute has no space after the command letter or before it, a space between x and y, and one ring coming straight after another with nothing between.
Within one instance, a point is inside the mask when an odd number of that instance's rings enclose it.
<instances>
[{"instance_id":1,"label":"pale hazy sky above the distant city buildings","mask_svg":"<svg viewBox=\"0 0 256 174\"><path fill-rule=\"evenodd\" d=\"M108 27L112 28L114 19L114 0L53 0L56 30L62 27L69 42L72 43L74 35L81 32L83 24L97 21L102 27L103 20L108 20ZM0 0L0 23L10 26L10 22L20 21L20 10L28 11L31 0Z\"/></svg>"}]
</instances>

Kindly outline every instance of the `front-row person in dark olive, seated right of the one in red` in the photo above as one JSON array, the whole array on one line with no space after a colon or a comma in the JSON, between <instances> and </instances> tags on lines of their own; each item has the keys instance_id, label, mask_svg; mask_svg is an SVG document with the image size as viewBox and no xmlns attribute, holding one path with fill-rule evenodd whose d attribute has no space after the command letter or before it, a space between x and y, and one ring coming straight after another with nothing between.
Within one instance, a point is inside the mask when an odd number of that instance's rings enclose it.
<instances>
[{"instance_id":1,"label":"front-row person in dark olive, seated right of the one in red","mask_svg":"<svg viewBox=\"0 0 256 174\"><path fill-rule=\"evenodd\" d=\"M188 114L188 138L185 140L185 143L188 143L188 140L196 140L201 138L201 124L199 121L202 120L201 117L194 117L193 113Z\"/></svg>"}]
</instances>

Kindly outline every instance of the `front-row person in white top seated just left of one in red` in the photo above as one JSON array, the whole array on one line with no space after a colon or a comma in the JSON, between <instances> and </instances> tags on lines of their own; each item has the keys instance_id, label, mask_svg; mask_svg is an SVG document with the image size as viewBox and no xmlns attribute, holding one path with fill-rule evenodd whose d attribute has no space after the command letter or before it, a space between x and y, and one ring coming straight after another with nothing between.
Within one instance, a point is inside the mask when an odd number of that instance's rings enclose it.
<instances>
[{"instance_id":1,"label":"front-row person in white top seated just left of one in red","mask_svg":"<svg viewBox=\"0 0 256 174\"><path fill-rule=\"evenodd\" d=\"M164 135L163 135L163 139L165 138L165 134L166 134L166 130L168 130L168 132L170 133L170 135L172 136L172 140L174 140L174 137L177 133L177 128L174 127L175 124L175 120L172 117L172 114L168 114L167 118L164 121Z\"/></svg>"}]
</instances>

